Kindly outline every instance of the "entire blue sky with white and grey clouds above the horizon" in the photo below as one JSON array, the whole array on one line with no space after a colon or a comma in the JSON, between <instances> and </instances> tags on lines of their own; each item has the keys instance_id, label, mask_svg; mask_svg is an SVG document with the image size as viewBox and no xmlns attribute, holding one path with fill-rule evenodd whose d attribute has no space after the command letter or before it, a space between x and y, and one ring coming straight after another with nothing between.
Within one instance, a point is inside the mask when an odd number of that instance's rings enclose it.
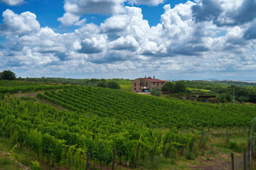
<instances>
[{"instance_id":1,"label":"entire blue sky with white and grey clouds above the horizon","mask_svg":"<svg viewBox=\"0 0 256 170\"><path fill-rule=\"evenodd\" d=\"M0 0L0 72L256 80L256 0Z\"/></svg>"}]
</instances>

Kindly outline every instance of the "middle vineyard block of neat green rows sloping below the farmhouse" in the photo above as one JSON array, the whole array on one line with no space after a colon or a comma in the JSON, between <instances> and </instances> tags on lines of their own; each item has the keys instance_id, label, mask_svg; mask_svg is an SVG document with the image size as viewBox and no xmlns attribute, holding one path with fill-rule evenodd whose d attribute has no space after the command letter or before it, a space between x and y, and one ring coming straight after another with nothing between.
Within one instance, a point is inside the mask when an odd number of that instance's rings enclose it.
<instances>
[{"instance_id":1,"label":"middle vineyard block of neat green rows sloping below the farmhouse","mask_svg":"<svg viewBox=\"0 0 256 170\"><path fill-rule=\"evenodd\" d=\"M38 97L78 113L137 121L150 128L246 127L256 106L170 101L113 89L67 86Z\"/></svg>"}]
</instances>

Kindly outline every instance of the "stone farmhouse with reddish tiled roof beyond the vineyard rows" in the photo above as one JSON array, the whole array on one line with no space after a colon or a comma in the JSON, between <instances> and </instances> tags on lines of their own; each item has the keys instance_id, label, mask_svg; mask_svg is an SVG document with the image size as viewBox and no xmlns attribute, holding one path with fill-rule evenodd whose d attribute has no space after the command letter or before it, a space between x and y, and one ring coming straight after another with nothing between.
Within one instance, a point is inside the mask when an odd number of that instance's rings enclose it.
<instances>
[{"instance_id":1,"label":"stone farmhouse with reddish tiled roof beyond the vineyard rows","mask_svg":"<svg viewBox=\"0 0 256 170\"><path fill-rule=\"evenodd\" d=\"M153 79L151 77L148 78L138 78L132 81L132 92L149 92L153 87L156 89L161 89L164 86L166 80Z\"/></svg>"}]
</instances>

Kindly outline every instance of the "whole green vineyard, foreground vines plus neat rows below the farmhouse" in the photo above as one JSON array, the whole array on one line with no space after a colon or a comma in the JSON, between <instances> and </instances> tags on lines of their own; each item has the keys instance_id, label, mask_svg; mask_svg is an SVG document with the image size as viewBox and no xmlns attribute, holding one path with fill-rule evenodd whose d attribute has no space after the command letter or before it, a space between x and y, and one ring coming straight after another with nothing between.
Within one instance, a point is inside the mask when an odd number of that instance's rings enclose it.
<instances>
[{"instance_id":1,"label":"whole green vineyard, foreground vines plus neat rows below the farmhouse","mask_svg":"<svg viewBox=\"0 0 256 170\"><path fill-rule=\"evenodd\" d=\"M6 82L11 83L18 84ZM20 86L9 86L8 93ZM91 169L108 169L113 153L115 164L146 167L154 159L191 154L200 137L197 145L203 146L207 138L195 129L245 129L256 117L255 105L194 103L80 85L23 86L40 92L36 98L1 94L1 137L33 151L43 169L50 162L85 169L89 158Z\"/></svg>"}]
</instances>

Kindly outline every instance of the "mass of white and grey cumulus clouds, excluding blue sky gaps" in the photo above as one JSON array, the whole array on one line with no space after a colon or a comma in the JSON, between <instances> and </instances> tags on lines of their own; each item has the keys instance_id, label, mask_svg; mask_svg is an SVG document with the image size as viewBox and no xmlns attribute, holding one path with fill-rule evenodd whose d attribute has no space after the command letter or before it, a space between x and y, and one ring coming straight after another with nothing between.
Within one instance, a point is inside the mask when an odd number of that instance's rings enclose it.
<instances>
[{"instance_id":1,"label":"mass of white and grey cumulus clouds, excluding blue sky gaps","mask_svg":"<svg viewBox=\"0 0 256 170\"><path fill-rule=\"evenodd\" d=\"M252 0L247 4L187 1L174 8L167 4L156 26L149 26L142 8L125 6L124 2L157 5L163 1L67 0L65 14L58 20L62 26L80 26L71 33L41 27L34 13L16 14L7 9L0 25L0 34L6 36L1 45L4 48L0 46L1 67L36 68L46 74L94 72L106 77L124 72L211 75L255 69L255 18L246 22L239 18L247 15L242 9L248 10ZM89 9L90 4L93 8ZM110 8L104 9L102 4ZM211 8L212 4L217 4L216 8ZM100 8L110 16L99 25L80 19L84 13L100 13ZM239 11L239 17L230 14L232 8ZM198 13L206 15L200 17Z\"/></svg>"}]
</instances>

